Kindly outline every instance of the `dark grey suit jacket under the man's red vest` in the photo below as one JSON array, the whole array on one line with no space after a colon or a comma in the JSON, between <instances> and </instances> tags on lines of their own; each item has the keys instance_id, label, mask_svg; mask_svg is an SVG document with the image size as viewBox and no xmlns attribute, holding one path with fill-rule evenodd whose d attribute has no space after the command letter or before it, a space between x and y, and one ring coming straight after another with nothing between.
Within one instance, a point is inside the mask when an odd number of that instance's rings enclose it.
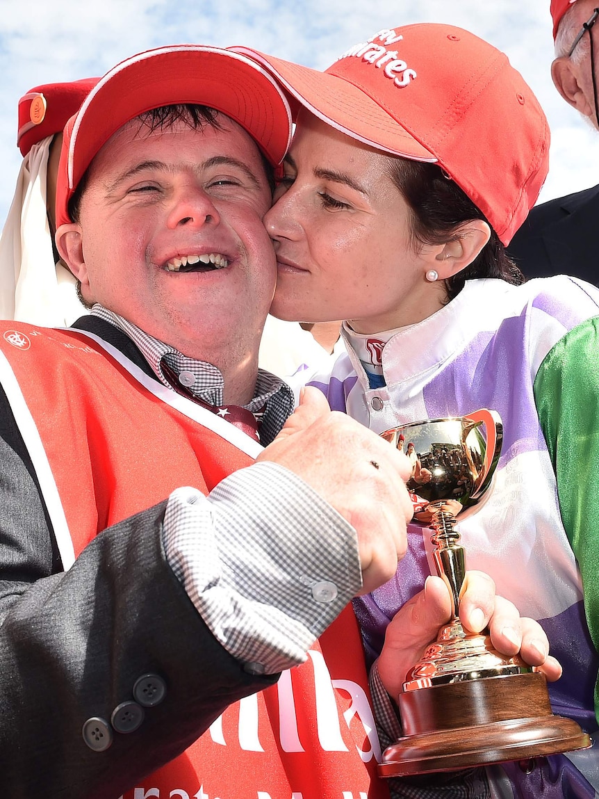
<instances>
[{"instance_id":1,"label":"dark grey suit jacket under the man's red vest","mask_svg":"<svg viewBox=\"0 0 599 799\"><path fill-rule=\"evenodd\" d=\"M125 334L84 317L149 374ZM77 475L73 475L77 479ZM176 757L237 699L276 677L246 674L212 637L161 549L165 503L102 531L62 570L30 457L0 388L0 793L117 799ZM131 733L85 744L155 674L166 686Z\"/></svg>"}]
</instances>

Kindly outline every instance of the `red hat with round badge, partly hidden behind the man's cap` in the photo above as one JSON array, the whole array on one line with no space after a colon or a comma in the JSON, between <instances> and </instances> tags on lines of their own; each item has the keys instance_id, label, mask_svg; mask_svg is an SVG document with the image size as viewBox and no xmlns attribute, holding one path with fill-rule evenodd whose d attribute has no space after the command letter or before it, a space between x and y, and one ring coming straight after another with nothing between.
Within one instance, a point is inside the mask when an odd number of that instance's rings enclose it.
<instances>
[{"instance_id":1,"label":"red hat with round badge, partly hidden behind the man's cap","mask_svg":"<svg viewBox=\"0 0 599 799\"><path fill-rule=\"evenodd\" d=\"M61 131L77 113L98 78L34 86L18 101L17 146L22 157L48 136Z\"/></svg>"}]
</instances>

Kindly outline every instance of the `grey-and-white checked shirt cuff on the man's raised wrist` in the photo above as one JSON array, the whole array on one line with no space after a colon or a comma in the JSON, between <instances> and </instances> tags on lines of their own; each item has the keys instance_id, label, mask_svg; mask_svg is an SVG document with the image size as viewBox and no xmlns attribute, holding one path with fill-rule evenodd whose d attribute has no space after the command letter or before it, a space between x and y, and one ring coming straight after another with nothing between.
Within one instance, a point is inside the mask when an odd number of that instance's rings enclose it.
<instances>
[{"instance_id":1,"label":"grey-and-white checked shirt cuff on the man's raised wrist","mask_svg":"<svg viewBox=\"0 0 599 799\"><path fill-rule=\"evenodd\" d=\"M212 634L248 671L306 651L362 585L355 530L292 471L254 463L206 497L169 497L166 558Z\"/></svg>"}]
</instances>

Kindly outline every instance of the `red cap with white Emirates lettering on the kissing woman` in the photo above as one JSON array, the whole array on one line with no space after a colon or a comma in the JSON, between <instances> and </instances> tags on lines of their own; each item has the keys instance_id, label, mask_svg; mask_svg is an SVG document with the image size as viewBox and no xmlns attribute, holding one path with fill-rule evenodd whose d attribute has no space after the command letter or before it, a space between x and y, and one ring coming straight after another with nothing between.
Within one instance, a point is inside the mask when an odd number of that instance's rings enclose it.
<instances>
[{"instance_id":1,"label":"red cap with white Emirates lettering on the kissing woman","mask_svg":"<svg viewBox=\"0 0 599 799\"><path fill-rule=\"evenodd\" d=\"M467 30L423 23L380 30L325 72L233 48L347 136L453 179L507 244L549 168L549 125L505 54Z\"/></svg>"}]
</instances>

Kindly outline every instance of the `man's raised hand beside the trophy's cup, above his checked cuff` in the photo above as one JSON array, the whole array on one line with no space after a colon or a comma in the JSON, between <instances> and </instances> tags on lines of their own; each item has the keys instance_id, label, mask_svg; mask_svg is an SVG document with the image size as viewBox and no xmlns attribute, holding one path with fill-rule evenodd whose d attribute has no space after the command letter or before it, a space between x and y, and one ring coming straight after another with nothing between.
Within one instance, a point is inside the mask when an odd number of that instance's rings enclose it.
<instances>
[{"instance_id":1,"label":"man's raised hand beside the trophy's cup, above his checked cuff","mask_svg":"<svg viewBox=\"0 0 599 799\"><path fill-rule=\"evenodd\" d=\"M258 461L295 472L355 528L367 593L395 574L407 550L413 507L406 488L406 455L348 415L331 411L316 388L304 388L300 405ZM323 530L323 546L327 531Z\"/></svg>"}]
</instances>

